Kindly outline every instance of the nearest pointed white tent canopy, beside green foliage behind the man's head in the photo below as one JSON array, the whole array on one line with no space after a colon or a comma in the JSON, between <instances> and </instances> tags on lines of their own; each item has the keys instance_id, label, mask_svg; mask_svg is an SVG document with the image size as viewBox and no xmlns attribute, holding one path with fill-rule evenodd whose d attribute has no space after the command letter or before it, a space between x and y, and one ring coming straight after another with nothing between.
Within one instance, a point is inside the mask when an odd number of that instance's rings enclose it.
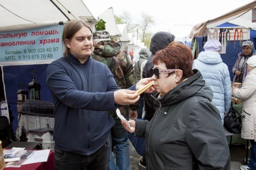
<instances>
[{"instance_id":1,"label":"nearest pointed white tent canopy, beside green foliage behind the man's head","mask_svg":"<svg viewBox=\"0 0 256 170\"><path fill-rule=\"evenodd\" d=\"M106 31L109 31L111 36L122 36L120 31L118 30L115 22L113 8L110 7L109 9L102 12L98 19L103 19L106 22Z\"/></svg>"}]
</instances>

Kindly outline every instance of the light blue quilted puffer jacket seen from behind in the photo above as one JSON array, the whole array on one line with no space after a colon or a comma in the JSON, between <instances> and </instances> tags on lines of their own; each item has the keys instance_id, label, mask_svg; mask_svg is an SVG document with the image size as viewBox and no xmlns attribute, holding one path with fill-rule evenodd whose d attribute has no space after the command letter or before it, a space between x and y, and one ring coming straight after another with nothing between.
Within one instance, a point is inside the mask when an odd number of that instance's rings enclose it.
<instances>
[{"instance_id":1,"label":"light blue quilted puffer jacket seen from behind","mask_svg":"<svg viewBox=\"0 0 256 170\"><path fill-rule=\"evenodd\" d=\"M227 65L222 62L217 51L202 51L194 60L193 69L198 69L203 79L213 91L213 105L215 105L224 123L225 113L231 106L231 81Z\"/></svg>"}]
</instances>

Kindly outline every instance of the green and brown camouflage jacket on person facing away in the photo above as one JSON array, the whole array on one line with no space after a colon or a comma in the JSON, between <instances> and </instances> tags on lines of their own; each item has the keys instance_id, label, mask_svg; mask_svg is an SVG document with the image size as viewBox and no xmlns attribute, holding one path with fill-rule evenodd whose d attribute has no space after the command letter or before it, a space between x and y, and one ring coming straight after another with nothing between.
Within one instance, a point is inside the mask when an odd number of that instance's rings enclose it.
<instances>
[{"instance_id":1,"label":"green and brown camouflage jacket on person facing away","mask_svg":"<svg viewBox=\"0 0 256 170\"><path fill-rule=\"evenodd\" d=\"M121 89L127 89L133 84L137 82L135 72L133 69L132 63L130 63L129 57L121 53L121 45L116 41L105 40L100 41L95 47L94 51L91 54L91 57L94 60L104 63L107 65L114 75L114 79L116 80L116 84ZM124 75L120 65L118 62L112 58L116 56L118 60L122 63L122 65L126 68L126 73ZM137 110L139 108L139 104L135 103L134 105L118 107L123 117L126 117L129 113L129 108L131 110ZM112 117L117 117L116 110L109 111Z\"/></svg>"}]
</instances>

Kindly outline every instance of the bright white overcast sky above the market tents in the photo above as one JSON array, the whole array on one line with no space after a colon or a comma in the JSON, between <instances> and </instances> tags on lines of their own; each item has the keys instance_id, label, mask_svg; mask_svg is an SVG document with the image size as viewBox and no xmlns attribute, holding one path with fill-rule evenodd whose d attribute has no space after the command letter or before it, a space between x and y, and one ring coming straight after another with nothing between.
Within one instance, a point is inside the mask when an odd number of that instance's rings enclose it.
<instances>
[{"instance_id":1,"label":"bright white overcast sky above the market tents","mask_svg":"<svg viewBox=\"0 0 256 170\"><path fill-rule=\"evenodd\" d=\"M138 22L140 13L151 14L156 24L150 31L169 31L179 34L192 28L193 25L214 19L253 0L83 0L94 15L99 16L104 10L113 7L114 14L120 15L123 10L131 13L133 22ZM188 27L181 27L186 26ZM191 30L190 30L191 31ZM189 32L186 34L189 34ZM186 36L186 34L184 36Z\"/></svg>"}]
</instances>

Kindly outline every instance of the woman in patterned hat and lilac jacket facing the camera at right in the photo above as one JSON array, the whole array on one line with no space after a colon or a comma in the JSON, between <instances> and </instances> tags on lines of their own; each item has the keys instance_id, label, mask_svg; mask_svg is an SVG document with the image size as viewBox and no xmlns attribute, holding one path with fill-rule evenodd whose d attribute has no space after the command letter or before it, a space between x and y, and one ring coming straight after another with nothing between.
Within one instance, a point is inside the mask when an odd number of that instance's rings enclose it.
<instances>
[{"instance_id":1,"label":"woman in patterned hat and lilac jacket facing the camera at right","mask_svg":"<svg viewBox=\"0 0 256 170\"><path fill-rule=\"evenodd\" d=\"M242 52L238 54L237 62L235 63L232 72L235 75L233 82L244 83L247 71L246 61L255 54L254 43L252 41L244 41L242 44Z\"/></svg>"}]
</instances>

